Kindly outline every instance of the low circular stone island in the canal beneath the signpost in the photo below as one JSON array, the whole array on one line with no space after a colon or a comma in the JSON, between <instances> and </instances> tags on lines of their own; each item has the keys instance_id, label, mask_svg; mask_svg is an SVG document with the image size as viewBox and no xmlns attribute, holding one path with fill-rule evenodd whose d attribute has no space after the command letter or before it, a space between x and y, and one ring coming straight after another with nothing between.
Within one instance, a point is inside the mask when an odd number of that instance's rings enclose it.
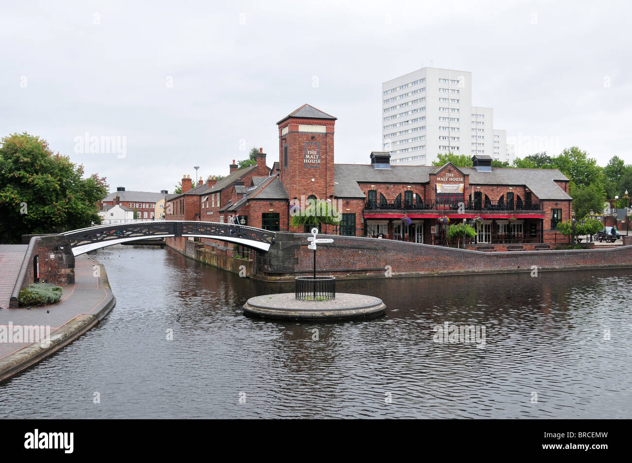
<instances>
[{"instance_id":1,"label":"low circular stone island in the canal beneath the signpost","mask_svg":"<svg viewBox=\"0 0 632 463\"><path fill-rule=\"evenodd\" d=\"M379 316L386 310L382 299L363 294L336 293L326 301L301 301L295 293L265 294L248 299L243 305L248 315L292 320L335 320Z\"/></svg>"}]
</instances>

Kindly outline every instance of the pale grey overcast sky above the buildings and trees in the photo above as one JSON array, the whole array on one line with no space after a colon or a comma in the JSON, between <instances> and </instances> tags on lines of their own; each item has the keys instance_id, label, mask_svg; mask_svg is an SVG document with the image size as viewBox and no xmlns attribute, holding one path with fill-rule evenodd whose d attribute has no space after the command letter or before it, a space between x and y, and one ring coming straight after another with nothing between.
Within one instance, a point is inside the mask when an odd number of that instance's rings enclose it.
<instances>
[{"instance_id":1,"label":"pale grey overcast sky above the buildings and trees","mask_svg":"<svg viewBox=\"0 0 632 463\"><path fill-rule=\"evenodd\" d=\"M471 71L472 104L507 136L630 163L630 16L624 1L3 1L0 135L44 138L111 191L171 193L252 147L271 166L276 122L308 103L338 118L336 162L365 164L382 82L432 65ZM85 133L125 137L125 157L75 152Z\"/></svg>"}]
</instances>

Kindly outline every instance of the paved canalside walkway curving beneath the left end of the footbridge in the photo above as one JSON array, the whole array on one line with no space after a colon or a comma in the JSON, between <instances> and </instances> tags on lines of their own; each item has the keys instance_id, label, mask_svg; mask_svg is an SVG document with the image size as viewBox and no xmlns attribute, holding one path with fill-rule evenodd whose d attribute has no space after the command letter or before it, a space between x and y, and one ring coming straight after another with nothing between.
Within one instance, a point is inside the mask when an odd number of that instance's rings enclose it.
<instances>
[{"instance_id":1,"label":"paved canalside walkway curving beneath the left end of the footbridge","mask_svg":"<svg viewBox=\"0 0 632 463\"><path fill-rule=\"evenodd\" d=\"M22 254L23 256L23 254ZM49 326L51 337L64 329L64 325L82 315L96 315L104 303L112 298L104 268L99 265L101 278L94 277L94 261L90 256L78 256L75 260L75 284L62 286L61 301L51 306L32 309L0 310L0 327ZM21 261L20 261L21 263ZM13 289L13 287L11 287ZM0 362L33 342L0 342Z\"/></svg>"}]
</instances>

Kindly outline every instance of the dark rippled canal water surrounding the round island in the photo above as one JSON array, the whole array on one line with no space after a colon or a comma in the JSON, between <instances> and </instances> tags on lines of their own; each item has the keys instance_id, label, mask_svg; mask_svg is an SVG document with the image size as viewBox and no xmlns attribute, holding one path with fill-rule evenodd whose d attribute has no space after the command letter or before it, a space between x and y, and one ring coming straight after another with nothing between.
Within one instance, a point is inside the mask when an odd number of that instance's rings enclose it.
<instances>
[{"instance_id":1,"label":"dark rippled canal water surrounding the round island","mask_svg":"<svg viewBox=\"0 0 632 463\"><path fill-rule=\"evenodd\" d=\"M0 418L632 418L632 270L338 282L386 316L283 323L241 306L293 286L95 256L116 308L0 385Z\"/></svg>"}]
</instances>

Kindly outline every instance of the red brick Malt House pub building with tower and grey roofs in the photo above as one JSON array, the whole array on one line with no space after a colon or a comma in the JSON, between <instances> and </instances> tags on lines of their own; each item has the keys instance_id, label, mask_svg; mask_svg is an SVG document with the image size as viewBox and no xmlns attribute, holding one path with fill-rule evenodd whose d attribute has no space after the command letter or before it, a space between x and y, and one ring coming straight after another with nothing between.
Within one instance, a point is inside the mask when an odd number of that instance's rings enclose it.
<instances>
[{"instance_id":1,"label":"red brick Malt House pub building with tower and grey roofs","mask_svg":"<svg viewBox=\"0 0 632 463\"><path fill-rule=\"evenodd\" d=\"M291 210L315 198L341 214L322 232L444 244L447 225L463 221L477 228L477 243L549 243L557 222L571 217L569 179L557 169L496 169L483 155L473 167L391 165L385 152L370 153L368 164L335 164L335 123L301 106L277 122L272 169L260 150L256 165L233 161L219 182L191 188L185 177L166 219L226 222L235 214L244 225L288 231Z\"/></svg>"}]
</instances>

